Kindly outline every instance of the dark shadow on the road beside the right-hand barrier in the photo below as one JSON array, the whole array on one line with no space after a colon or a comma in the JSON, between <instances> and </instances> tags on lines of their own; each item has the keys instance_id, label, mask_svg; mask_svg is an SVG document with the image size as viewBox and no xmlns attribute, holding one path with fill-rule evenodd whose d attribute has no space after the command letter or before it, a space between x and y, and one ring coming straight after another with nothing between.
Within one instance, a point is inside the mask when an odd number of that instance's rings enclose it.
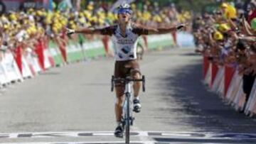
<instances>
[{"instance_id":1,"label":"dark shadow on the road beside the right-hand barrier","mask_svg":"<svg viewBox=\"0 0 256 144\"><path fill-rule=\"evenodd\" d=\"M201 62L187 65L161 77L164 92L161 99L176 103L178 108L161 109L178 116L177 121L207 132L256 132L255 121L223 103L217 94L202 84ZM167 91L167 93L166 93ZM175 116L176 116L175 115ZM182 117L183 116L183 117ZM168 123L167 123L168 124Z\"/></svg>"}]
</instances>

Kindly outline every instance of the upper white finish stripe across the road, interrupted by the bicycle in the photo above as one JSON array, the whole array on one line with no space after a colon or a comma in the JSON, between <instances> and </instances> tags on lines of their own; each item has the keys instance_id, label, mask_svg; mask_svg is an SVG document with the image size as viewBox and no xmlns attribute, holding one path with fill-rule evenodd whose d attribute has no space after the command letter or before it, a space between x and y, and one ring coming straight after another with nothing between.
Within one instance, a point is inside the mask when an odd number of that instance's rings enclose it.
<instances>
[{"instance_id":1,"label":"upper white finish stripe across the road, interrupted by the bicycle","mask_svg":"<svg viewBox=\"0 0 256 144\"><path fill-rule=\"evenodd\" d=\"M131 137L141 137L142 141L151 141L151 137L197 138L197 139L251 139L256 140L256 133L190 133L168 131L132 131ZM78 131L78 132L31 132L0 133L1 139L11 138L82 138L82 137L114 137L113 131Z\"/></svg>"}]
</instances>

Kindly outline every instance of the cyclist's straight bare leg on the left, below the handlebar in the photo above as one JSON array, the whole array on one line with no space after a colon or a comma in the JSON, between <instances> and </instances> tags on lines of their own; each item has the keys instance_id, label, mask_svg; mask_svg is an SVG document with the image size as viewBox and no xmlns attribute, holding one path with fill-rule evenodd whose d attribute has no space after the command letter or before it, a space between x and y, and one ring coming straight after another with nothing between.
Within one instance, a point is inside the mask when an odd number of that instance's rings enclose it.
<instances>
[{"instance_id":1,"label":"cyclist's straight bare leg on the left, below the handlebar","mask_svg":"<svg viewBox=\"0 0 256 144\"><path fill-rule=\"evenodd\" d=\"M122 119L122 103L124 101L124 87L115 87L115 92L116 92L116 102L114 104L114 111L116 115L116 120L117 122L120 122Z\"/></svg>"}]
</instances>

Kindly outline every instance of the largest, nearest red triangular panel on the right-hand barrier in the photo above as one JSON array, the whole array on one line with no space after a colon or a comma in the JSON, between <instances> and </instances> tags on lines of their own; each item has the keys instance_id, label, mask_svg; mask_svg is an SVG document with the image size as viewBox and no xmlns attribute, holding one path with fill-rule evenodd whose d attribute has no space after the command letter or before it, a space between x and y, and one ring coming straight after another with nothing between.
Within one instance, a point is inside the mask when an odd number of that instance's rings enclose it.
<instances>
[{"instance_id":1,"label":"largest, nearest red triangular panel on the right-hand barrier","mask_svg":"<svg viewBox=\"0 0 256 144\"><path fill-rule=\"evenodd\" d=\"M228 92L228 87L230 86L231 79L235 73L235 69L233 67L225 66L225 76L224 76L224 96Z\"/></svg>"}]
</instances>

